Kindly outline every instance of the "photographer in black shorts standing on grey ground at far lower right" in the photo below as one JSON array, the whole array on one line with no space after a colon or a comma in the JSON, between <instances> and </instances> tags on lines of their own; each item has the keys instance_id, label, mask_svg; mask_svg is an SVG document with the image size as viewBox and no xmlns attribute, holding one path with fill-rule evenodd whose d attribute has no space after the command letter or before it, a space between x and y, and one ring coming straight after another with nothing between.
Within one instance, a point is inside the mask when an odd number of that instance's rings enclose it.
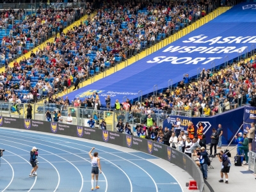
<instances>
[{"instance_id":1,"label":"photographer in black shorts standing on grey ground at far lower right","mask_svg":"<svg viewBox=\"0 0 256 192\"><path fill-rule=\"evenodd\" d=\"M224 173L226 178L225 183L228 184L228 173L231 166L230 160L227 154L224 154L223 150L221 150L220 153L218 154L218 158L219 158L219 161L222 162L221 171L220 171L221 179L219 180L219 182L224 182L223 180L223 173Z\"/></svg>"}]
</instances>

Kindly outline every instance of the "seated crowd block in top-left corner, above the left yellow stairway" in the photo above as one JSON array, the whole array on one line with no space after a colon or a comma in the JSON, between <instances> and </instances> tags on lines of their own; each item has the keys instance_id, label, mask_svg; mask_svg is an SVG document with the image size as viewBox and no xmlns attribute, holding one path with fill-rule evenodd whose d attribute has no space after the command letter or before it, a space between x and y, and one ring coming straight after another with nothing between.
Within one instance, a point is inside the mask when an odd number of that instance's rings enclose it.
<instances>
[{"instance_id":1,"label":"seated crowd block in top-left corner, above the left yellow stairway","mask_svg":"<svg viewBox=\"0 0 256 192\"><path fill-rule=\"evenodd\" d=\"M1 64L25 54L83 16L83 9L38 9L33 15L24 9L1 12ZM19 20L20 19L20 20Z\"/></svg>"}]
</instances>

